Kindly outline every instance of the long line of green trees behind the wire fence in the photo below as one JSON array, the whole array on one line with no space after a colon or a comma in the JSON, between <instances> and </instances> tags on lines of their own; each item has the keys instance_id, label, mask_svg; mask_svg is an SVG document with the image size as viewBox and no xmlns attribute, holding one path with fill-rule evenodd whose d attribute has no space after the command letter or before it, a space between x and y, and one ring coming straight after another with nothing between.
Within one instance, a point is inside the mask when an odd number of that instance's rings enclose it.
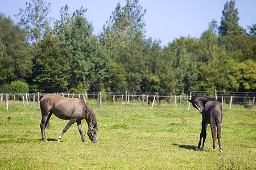
<instances>
[{"instance_id":1,"label":"long line of green trees behind the wire fence","mask_svg":"<svg viewBox=\"0 0 256 170\"><path fill-rule=\"evenodd\" d=\"M235 1L225 3L220 26L214 19L200 38L163 47L146 39L138 0L118 3L99 36L82 7L62 7L51 27L50 5L27 2L17 24L0 14L1 92L11 83L26 84L26 92L255 92L255 24L240 27Z\"/></svg>"}]
</instances>

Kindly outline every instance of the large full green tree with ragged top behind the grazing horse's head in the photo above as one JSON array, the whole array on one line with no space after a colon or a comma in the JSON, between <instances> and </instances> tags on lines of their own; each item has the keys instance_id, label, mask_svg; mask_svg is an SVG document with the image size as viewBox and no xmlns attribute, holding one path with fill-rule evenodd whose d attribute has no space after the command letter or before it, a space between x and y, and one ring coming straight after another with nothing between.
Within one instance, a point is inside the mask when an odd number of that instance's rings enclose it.
<instances>
[{"instance_id":1,"label":"large full green tree with ragged top behind the grazing horse's head","mask_svg":"<svg viewBox=\"0 0 256 170\"><path fill-rule=\"evenodd\" d=\"M56 20L54 35L61 52L67 57L71 77L69 89L74 92L103 90L109 56L92 35L92 24L84 17L82 7L68 14L68 6L61 8L61 20Z\"/></svg>"}]
</instances>

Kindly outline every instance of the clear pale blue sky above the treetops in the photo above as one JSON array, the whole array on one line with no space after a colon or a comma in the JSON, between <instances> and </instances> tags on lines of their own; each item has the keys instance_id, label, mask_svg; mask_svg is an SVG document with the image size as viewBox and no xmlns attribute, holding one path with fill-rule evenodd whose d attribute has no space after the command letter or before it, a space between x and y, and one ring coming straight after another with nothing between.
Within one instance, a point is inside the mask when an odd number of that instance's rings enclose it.
<instances>
[{"instance_id":1,"label":"clear pale blue sky above the treetops","mask_svg":"<svg viewBox=\"0 0 256 170\"><path fill-rule=\"evenodd\" d=\"M10 16L16 23L14 17L18 14L19 8L26 7L26 0L0 0L0 12ZM30 0L28 0L30 2ZM103 25L109 20L112 11L117 3L121 6L126 0L44 0L47 4L51 2L49 15L53 19L60 19L60 8L68 5L69 12L87 8L85 17L92 23L94 35L98 35ZM146 23L146 38L161 40L162 45L168 45L175 38L190 36L199 38L201 33L208 29L208 24L213 19L217 20L220 26L222 10L226 0L139 0L143 9L146 9L144 22ZM238 23L247 29L247 25L256 23L256 1L237 0Z\"/></svg>"}]
</instances>

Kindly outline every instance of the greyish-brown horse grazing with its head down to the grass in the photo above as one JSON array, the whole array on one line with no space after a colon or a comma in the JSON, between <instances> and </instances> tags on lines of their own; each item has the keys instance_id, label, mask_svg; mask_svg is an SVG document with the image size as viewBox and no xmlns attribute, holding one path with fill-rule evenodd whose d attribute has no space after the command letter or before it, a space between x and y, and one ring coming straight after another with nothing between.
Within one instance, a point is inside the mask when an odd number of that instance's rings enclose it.
<instances>
[{"instance_id":1,"label":"greyish-brown horse grazing with its head down to the grass","mask_svg":"<svg viewBox=\"0 0 256 170\"><path fill-rule=\"evenodd\" d=\"M87 135L90 141L93 143L98 142L98 125L95 113L93 112L93 109L90 108L89 105L86 104L82 99L71 99L58 95L47 94L40 97L40 108L42 113L42 121L40 124L42 141L47 141L45 129L49 118L52 116L52 114L54 114L58 118L69 120L68 124L63 129L63 132L58 137L58 142L60 142L61 137L68 130L68 128L76 122L82 142L87 143L84 139L84 135L82 134L81 120L83 119L85 119L88 124Z\"/></svg>"}]
</instances>

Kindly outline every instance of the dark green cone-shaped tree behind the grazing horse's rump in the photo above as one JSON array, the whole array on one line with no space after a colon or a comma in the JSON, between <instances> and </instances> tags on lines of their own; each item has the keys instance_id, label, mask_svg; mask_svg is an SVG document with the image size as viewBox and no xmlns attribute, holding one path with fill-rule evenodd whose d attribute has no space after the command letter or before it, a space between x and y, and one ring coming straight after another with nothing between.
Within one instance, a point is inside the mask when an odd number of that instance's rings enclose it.
<instances>
[{"instance_id":1,"label":"dark green cone-shaped tree behind the grazing horse's rump","mask_svg":"<svg viewBox=\"0 0 256 170\"><path fill-rule=\"evenodd\" d=\"M67 56L57 45L57 37L46 32L36 49L33 69L32 91L65 92L71 79Z\"/></svg>"}]
</instances>

